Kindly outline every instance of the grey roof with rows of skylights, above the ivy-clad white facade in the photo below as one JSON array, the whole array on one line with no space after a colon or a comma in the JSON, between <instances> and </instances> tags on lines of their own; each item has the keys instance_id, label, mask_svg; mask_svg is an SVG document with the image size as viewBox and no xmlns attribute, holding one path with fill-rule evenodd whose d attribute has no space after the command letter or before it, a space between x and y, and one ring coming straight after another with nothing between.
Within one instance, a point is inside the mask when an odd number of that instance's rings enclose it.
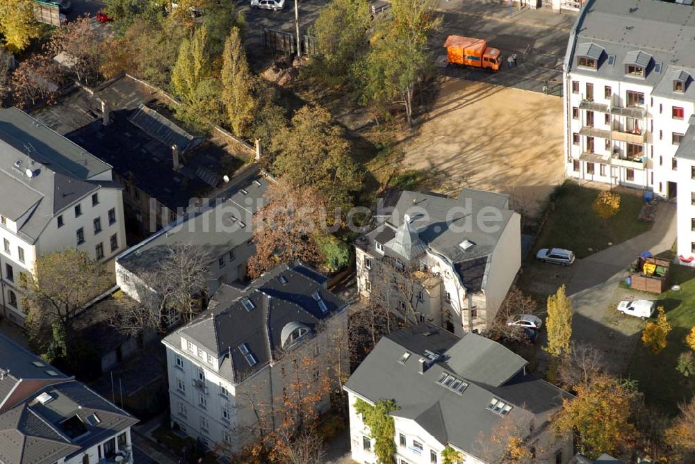
<instances>
[{"instance_id":1,"label":"grey roof with rows of skylights, above the ivy-clad white facade","mask_svg":"<svg viewBox=\"0 0 695 464\"><path fill-rule=\"evenodd\" d=\"M420 374L419 359L427 356L425 350L443 356ZM411 356L400 363L405 352ZM486 409L491 398L512 404L509 416L534 418L536 424L543 424L562 405L562 398L569 397L555 386L525 375L524 364L512 351L480 335L468 333L458 338L423 323L384 336L345 388L373 402L393 399L400 410L391 415L415 420L441 444L455 445L475 456L481 434L483 439L489 436L502 420L502 416ZM502 373L493 372L496 365ZM518 372L509 375L515 369ZM435 383L443 372L467 381L466 390L459 395ZM486 383L508 375L512 379L500 386Z\"/></svg>"}]
</instances>

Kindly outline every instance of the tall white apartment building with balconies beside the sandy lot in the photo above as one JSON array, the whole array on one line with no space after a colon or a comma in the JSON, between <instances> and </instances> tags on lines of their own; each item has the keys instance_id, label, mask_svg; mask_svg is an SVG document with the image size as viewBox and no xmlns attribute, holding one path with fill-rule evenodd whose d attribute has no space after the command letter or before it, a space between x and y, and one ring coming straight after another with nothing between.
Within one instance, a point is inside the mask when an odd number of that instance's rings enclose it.
<instances>
[{"instance_id":1,"label":"tall white apartment building with balconies beside the sandy lot","mask_svg":"<svg viewBox=\"0 0 695 464\"><path fill-rule=\"evenodd\" d=\"M589 0L564 60L566 174L678 197L678 254L695 256L692 6Z\"/></svg>"}]
</instances>

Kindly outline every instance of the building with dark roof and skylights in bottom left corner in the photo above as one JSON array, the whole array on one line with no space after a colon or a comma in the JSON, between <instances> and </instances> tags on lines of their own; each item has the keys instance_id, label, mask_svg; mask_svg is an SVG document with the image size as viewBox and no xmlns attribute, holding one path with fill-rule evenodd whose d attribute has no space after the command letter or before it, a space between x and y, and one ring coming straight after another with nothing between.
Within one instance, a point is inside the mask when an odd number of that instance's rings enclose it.
<instances>
[{"instance_id":1,"label":"building with dark roof and skylights in bottom left corner","mask_svg":"<svg viewBox=\"0 0 695 464\"><path fill-rule=\"evenodd\" d=\"M132 464L137 422L0 335L0 464Z\"/></svg>"}]
</instances>

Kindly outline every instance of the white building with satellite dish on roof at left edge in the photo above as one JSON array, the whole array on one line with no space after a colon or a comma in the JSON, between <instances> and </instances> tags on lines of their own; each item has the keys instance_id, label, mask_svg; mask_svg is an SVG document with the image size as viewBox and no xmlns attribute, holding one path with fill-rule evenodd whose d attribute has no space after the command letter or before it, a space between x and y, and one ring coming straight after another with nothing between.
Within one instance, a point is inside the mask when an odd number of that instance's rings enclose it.
<instances>
[{"instance_id":1,"label":"white building with satellite dish on roof at left edge","mask_svg":"<svg viewBox=\"0 0 695 464\"><path fill-rule=\"evenodd\" d=\"M19 277L38 256L76 248L106 262L125 248L111 166L22 110L1 110L0 239L3 315L22 324Z\"/></svg>"}]
</instances>

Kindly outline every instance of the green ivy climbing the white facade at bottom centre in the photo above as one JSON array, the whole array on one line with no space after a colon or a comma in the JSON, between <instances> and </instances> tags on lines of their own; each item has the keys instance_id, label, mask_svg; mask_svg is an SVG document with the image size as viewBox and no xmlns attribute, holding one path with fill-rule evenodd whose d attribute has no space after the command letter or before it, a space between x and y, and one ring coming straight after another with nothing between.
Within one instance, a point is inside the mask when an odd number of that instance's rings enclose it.
<instances>
[{"instance_id":1,"label":"green ivy climbing the white facade at bottom centre","mask_svg":"<svg viewBox=\"0 0 695 464\"><path fill-rule=\"evenodd\" d=\"M374 452L379 463L393 463L395 424L389 413L399 409L393 399L380 399L374 406L359 398L354 402L354 410L362 415L363 422L369 427L370 436L374 439Z\"/></svg>"}]
</instances>

